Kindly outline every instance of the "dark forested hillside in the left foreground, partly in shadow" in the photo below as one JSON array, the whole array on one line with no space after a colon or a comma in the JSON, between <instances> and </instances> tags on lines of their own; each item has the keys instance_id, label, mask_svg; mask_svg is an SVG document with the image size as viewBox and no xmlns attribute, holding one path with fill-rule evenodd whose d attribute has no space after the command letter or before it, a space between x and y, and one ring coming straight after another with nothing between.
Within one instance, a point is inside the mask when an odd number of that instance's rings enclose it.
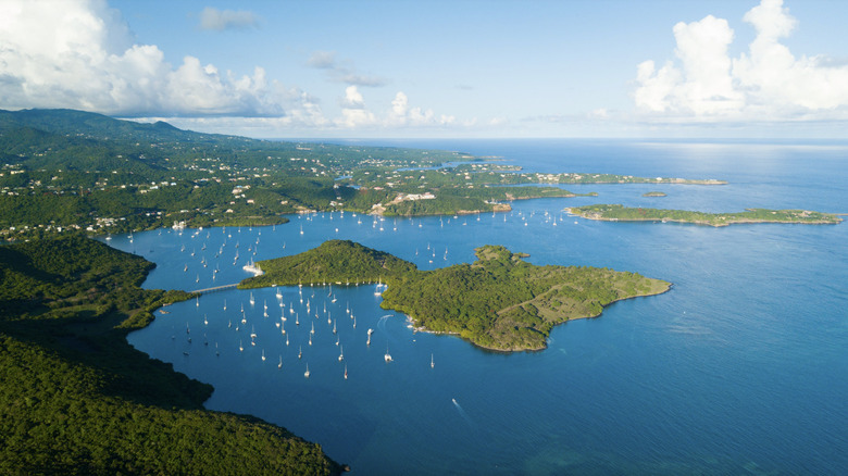
<instances>
[{"instance_id":1,"label":"dark forested hillside in the left foreground, partly in shadow","mask_svg":"<svg viewBox=\"0 0 848 476\"><path fill-rule=\"evenodd\" d=\"M127 343L190 297L141 289L152 266L79 234L0 247L0 474L339 474L316 443L204 410L211 386Z\"/></svg>"}]
</instances>

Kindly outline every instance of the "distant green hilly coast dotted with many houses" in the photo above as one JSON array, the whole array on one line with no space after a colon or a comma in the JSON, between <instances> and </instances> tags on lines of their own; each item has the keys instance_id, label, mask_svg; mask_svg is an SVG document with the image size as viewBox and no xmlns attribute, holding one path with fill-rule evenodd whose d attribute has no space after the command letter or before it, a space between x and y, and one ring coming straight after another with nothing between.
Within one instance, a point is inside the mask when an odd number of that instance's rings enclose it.
<instances>
[{"instance_id":1,"label":"distant green hilly coast dotted with many houses","mask_svg":"<svg viewBox=\"0 0 848 476\"><path fill-rule=\"evenodd\" d=\"M283 224L282 215L387 216L511 210L575 197L568 184L721 180L537 174L458 151L283 142L180 130L73 110L0 110L0 239ZM596 192L585 193L596 196Z\"/></svg>"}]
</instances>

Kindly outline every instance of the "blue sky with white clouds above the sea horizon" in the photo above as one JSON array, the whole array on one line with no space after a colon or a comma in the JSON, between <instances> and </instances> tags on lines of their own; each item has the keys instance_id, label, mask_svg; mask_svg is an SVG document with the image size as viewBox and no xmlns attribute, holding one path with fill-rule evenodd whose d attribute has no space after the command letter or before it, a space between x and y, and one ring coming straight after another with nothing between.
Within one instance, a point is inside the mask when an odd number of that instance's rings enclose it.
<instances>
[{"instance_id":1,"label":"blue sky with white clouds above the sea horizon","mask_svg":"<svg viewBox=\"0 0 848 476\"><path fill-rule=\"evenodd\" d=\"M0 109L260 138L848 138L840 0L0 0Z\"/></svg>"}]
</instances>

